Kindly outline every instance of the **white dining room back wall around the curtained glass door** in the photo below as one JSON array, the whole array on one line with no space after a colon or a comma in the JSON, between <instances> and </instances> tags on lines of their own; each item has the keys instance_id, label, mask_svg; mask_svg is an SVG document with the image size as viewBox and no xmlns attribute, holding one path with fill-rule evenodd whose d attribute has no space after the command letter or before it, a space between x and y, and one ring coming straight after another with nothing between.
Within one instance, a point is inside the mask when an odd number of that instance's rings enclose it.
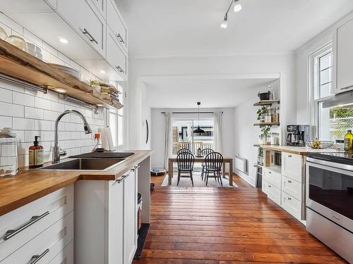
<instances>
[{"instance_id":1,"label":"white dining room back wall around the curtained glass door","mask_svg":"<svg viewBox=\"0 0 353 264\"><path fill-rule=\"evenodd\" d=\"M184 112L195 111L195 108L152 108L152 167L164 167L164 139L165 139L165 117L161 112ZM222 115L222 154L223 156L234 156L234 108L202 108L202 111L223 111Z\"/></svg>"}]
</instances>

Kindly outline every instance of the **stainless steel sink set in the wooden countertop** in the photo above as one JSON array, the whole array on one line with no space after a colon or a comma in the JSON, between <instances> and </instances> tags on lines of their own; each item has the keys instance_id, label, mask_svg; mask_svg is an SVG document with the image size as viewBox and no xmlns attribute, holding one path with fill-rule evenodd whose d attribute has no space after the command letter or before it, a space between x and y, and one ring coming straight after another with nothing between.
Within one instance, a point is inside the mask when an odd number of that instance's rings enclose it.
<instances>
[{"instance_id":1,"label":"stainless steel sink set in the wooden countertop","mask_svg":"<svg viewBox=\"0 0 353 264\"><path fill-rule=\"evenodd\" d=\"M125 161L125 158L75 158L49 165L40 170L110 170Z\"/></svg>"}]
</instances>

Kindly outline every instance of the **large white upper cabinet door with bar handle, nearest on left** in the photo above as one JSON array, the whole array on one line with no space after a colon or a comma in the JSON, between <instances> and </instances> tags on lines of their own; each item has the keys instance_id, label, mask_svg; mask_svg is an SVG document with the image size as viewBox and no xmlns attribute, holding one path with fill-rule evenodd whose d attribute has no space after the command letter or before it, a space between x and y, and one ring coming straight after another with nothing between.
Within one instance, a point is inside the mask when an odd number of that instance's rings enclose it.
<instances>
[{"instance_id":1,"label":"large white upper cabinet door with bar handle, nearest on left","mask_svg":"<svg viewBox=\"0 0 353 264\"><path fill-rule=\"evenodd\" d=\"M105 27L101 15L85 0L58 0L58 13L105 58Z\"/></svg>"}]
</instances>

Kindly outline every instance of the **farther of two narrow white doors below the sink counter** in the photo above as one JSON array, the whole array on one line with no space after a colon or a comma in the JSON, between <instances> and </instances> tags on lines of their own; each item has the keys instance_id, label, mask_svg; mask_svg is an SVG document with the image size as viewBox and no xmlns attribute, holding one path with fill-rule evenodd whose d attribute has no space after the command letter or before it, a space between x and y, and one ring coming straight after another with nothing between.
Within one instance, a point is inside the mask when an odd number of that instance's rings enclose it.
<instances>
[{"instance_id":1,"label":"farther of two narrow white doors below the sink counter","mask_svg":"<svg viewBox=\"0 0 353 264\"><path fill-rule=\"evenodd\" d=\"M124 180L124 263L131 264L137 249L137 177L131 170Z\"/></svg>"}]
</instances>

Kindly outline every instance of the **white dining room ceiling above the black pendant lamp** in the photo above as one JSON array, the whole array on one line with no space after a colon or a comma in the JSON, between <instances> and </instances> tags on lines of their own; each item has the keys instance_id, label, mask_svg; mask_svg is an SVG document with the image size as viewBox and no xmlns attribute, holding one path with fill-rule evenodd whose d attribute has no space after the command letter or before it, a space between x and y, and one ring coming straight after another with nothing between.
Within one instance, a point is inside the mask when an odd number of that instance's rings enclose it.
<instances>
[{"instance_id":1,"label":"white dining room ceiling above the black pendant lamp","mask_svg":"<svg viewBox=\"0 0 353 264\"><path fill-rule=\"evenodd\" d=\"M267 91L275 79L157 80L145 82L147 103L152 108L227 108L252 100Z\"/></svg>"}]
</instances>

